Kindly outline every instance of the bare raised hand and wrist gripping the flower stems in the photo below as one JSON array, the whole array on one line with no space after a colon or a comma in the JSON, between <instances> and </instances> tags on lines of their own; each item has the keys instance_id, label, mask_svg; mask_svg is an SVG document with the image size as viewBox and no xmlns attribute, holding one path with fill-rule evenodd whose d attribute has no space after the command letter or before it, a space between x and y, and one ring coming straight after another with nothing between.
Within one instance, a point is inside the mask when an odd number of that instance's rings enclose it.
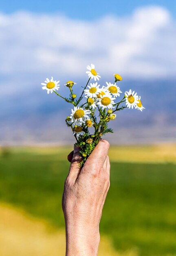
<instances>
[{"instance_id":1,"label":"bare raised hand and wrist gripping the flower stems","mask_svg":"<svg viewBox=\"0 0 176 256\"><path fill-rule=\"evenodd\" d=\"M99 222L110 187L108 149L108 141L100 139L82 169L79 148L68 155L71 163L62 197L66 256L97 256Z\"/></svg>"}]
</instances>

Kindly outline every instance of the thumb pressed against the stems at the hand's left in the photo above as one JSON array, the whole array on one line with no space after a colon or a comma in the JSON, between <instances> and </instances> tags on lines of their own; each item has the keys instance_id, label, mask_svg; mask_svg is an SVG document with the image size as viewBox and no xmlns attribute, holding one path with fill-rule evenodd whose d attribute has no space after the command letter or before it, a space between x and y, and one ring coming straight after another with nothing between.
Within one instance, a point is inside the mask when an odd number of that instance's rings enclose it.
<instances>
[{"instance_id":1,"label":"thumb pressed against the stems at the hand's left","mask_svg":"<svg viewBox=\"0 0 176 256\"><path fill-rule=\"evenodd\" d=\"M68 155L68 161L71 159L71 153ZM68 179L70 182L74 183L76 181L81 171L81 168L79 166L79 162L81 162L81 160L82 160L82 157L81 157L81 154L79 153L79 147L74 146L73 157L71 159L70 170L68 174Z\"/></svg>"}]
</instances>

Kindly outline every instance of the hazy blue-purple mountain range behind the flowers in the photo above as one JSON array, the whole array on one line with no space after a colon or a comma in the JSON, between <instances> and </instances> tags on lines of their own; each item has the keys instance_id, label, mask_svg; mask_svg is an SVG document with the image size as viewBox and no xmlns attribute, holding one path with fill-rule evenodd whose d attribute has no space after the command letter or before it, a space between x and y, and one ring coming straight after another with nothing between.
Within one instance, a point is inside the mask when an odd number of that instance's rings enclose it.
<instances>
[{"instance_id":1,"label":"hazy blue-purple mountain range behind the flowers","mask_svg":"<svg viewBox=\"0 0 176 256\"><path fill-rule=\"evenodd\" d=\"M82 84L74 85L77 95ZM111 143L176 141L176 80L129 80L118 85L123 92L131 88L141 95L145 110L117 112L117 119L109 123L114 129L114 134L107 136ZM68 95L67 90L63 87L60 93ZM40 85L2 94L0 105L0 144L74 143L64 121L72 106L54 93L47 95Z\"/></svg>"}]
</instances>

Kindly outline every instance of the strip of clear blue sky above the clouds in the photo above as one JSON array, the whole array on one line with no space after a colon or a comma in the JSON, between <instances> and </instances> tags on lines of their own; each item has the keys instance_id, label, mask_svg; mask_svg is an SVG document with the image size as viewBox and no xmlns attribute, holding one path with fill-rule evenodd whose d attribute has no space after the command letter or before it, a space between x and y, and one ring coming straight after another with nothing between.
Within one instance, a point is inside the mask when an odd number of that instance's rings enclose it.
<instances>
[{"instance_id":1,"label":"strip of clear blue sky above the clouds","mask_svg":"<svg viewBox=\"0 0 176 256\"><path fill-rule=\"evenodd\" d=\"M25 10L38 13L63 13L70 18L94 20L105 15L126 16L138 7L159 5L169 10L176 17L175 0L7 0L0 1L0 11L12 13Z\"/></svg>"}]
</instances>

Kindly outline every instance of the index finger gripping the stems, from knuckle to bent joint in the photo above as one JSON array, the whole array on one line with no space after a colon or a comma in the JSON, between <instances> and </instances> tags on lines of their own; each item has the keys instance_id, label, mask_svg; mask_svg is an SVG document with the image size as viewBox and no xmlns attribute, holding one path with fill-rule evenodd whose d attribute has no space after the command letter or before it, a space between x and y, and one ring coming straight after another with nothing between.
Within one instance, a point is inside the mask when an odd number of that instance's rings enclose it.
<instances>
[{"instance_id":1,"label":"index finger gripping the stems, from knuckle to bent joint","mask_svg":"<svg viewBox=\"0 0 176 256\"><path fill-rule=\"evenodd\" d=\"M109 146L110 145L108 141L104 139L100 139L99 143L97 144L95 149L92 151L92 153L86 160L86 163L84 164L84 166L96 164L96 166L99 166L100 168L102 168L106 160L106 157L108 155Z\"/></svg>"}]
</instances>

